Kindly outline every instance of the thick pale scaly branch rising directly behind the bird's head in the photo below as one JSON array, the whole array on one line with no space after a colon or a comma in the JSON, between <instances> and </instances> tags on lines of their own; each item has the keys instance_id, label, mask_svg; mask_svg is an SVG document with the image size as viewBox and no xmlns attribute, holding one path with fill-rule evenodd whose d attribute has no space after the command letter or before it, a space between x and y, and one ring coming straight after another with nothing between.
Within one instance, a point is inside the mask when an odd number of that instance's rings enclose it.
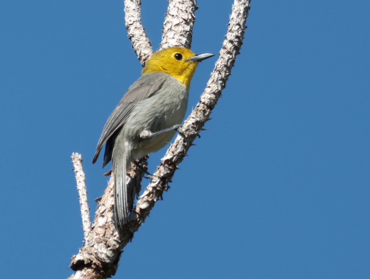
<instances>
[{"instance_id":1,"label":"thick pale scaly branch rising directly behind the bird's head","mask_svg":"<svg viewBox=\"0 0 370 279\"><path fill-rule=\"evenodd\" d=\"M160 49L182 46L190 49L196 0L169 0Z\"/></svg>"}]
</instances>

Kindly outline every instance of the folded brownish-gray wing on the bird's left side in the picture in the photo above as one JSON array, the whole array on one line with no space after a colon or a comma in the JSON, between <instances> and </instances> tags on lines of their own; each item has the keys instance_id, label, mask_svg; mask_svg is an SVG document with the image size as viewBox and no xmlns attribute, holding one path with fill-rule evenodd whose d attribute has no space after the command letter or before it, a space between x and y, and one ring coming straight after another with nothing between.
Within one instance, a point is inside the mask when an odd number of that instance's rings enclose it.
<instances>
[{"instance_id":1,"label":"folded brownish-gray wing on the bird's left side in the picture","mask_svg":"<svg viewBox=\"0 0 370 279\"><path fill-rule=\"evenodd\" d=\"M103 167L107 165L112 158L114 139L122 125L127 121L132 109L134 109L138 102L148 99L157 93L165 82L166 75L167 74L164 73L147 74L145 76L141 76L129 87L120 103L118 103L117 107L113 110L104 125L98 146L96 147L94 158L92 159L93 164L98 159L100 150L104 143L107 142Z\"/></svg>"}]
</instances>

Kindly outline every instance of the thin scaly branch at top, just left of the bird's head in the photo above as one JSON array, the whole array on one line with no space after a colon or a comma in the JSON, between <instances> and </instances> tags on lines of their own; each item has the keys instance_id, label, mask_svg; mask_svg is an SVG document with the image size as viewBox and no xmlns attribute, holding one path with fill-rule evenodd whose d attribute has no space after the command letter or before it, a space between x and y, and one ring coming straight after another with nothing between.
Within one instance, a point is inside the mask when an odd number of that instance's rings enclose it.
<instances>
[{"instance_id":1,"label":"thin scaly branch at top, just left of the bird's head","mask_svg":"<svg viewBox=\"0 0 370 279\"><path fill-rule=\"evenodd\" d=\"M131 40L132 47L138 56L141 64L152 55L152 45L145 33L144 27L141 25L141 1L140 0L124 0L125 3L125 24L128 38Z\"/></svg>"}]
</instances>

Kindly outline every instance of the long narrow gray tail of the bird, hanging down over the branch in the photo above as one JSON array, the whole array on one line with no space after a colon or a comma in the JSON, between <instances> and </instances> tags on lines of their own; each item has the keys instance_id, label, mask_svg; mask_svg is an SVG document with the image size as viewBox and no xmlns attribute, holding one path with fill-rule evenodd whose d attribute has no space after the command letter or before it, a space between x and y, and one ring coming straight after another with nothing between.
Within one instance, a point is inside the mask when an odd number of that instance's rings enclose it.
<instances>
[{"instance_id":1,"label":"long narrow gray tail of the bird, hanging down over the branch","mask_svg":"<svg viewBox=\"0 0 370 279\"><path fill-rule=\"evenodd\" d=\"M114 150L112 157L112 173L114 175L114 213L116 225L122 228L128 221L128 213L132 209L134 198L131 189L126 185L127 168L130 164L130 147Z\"/></svg>"}]
</instances>

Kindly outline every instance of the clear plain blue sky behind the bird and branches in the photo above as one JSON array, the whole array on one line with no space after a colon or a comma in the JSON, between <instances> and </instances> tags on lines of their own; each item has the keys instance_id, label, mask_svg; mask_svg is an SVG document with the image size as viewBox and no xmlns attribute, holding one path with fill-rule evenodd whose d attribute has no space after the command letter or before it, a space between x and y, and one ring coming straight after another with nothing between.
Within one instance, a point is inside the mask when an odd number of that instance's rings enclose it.
<instances>
[{"instance_id":1,"label":"clear plain blue sky behind the bird and branches","mask_svg":"<svg viewBox=\"0 0 370 279\"><path fill-rule=\"evenodd\" d=\"M158 49L167 1L142 2ZM198 1L194 52L218 53L231 3ZM251 7L209 130L124 249L117 278L370 274L370 2ZM83 155L93 215L109 167L91 159L141 65L122 1L3 1L0 30L1 274L66 278L83 240L70 155ZM216 59L198 67L187 114Z\"/></svg>"}]
</instances>

